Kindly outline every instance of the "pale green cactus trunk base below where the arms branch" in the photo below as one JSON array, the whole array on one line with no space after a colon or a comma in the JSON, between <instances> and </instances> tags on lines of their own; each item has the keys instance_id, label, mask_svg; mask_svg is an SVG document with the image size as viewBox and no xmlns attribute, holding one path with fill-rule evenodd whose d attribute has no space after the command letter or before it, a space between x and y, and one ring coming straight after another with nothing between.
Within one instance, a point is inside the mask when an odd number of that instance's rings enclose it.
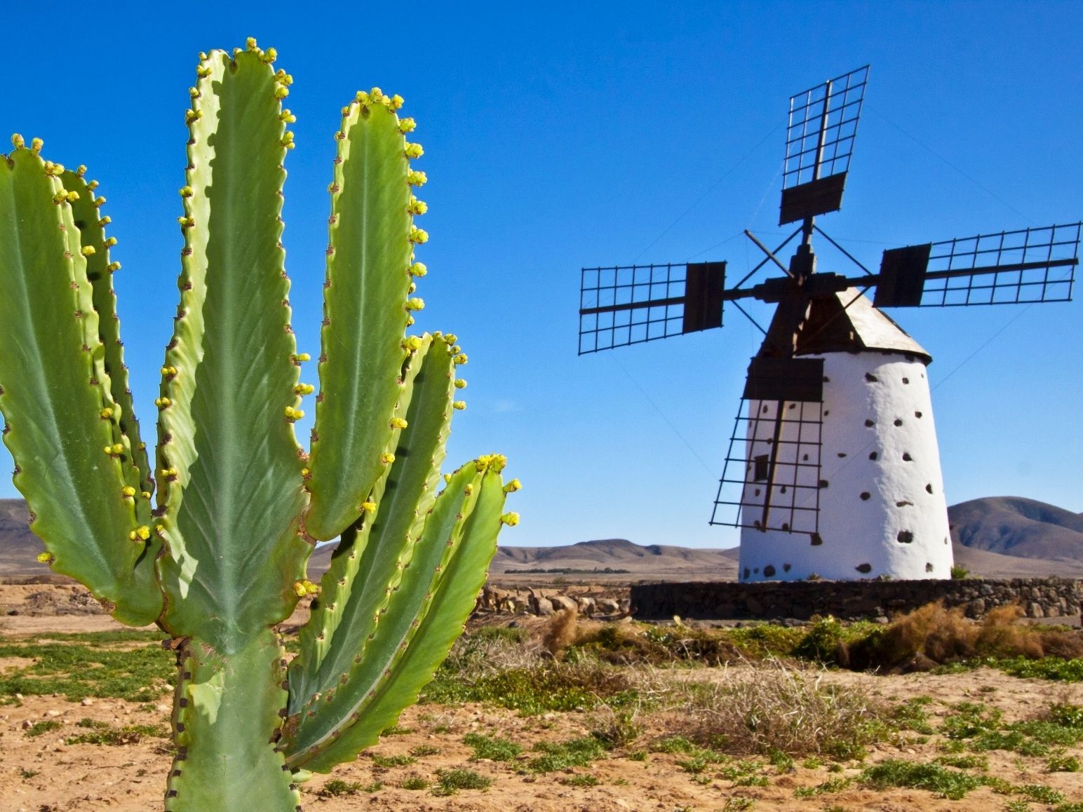
<instances>
[{"instance_id":1,"label":"pale green cactus trunk base below where the arms branch","mask_svg":"<svg viewBox=\"0 0 1083 812\"><path fill-rule=\"evenodd\" d=\"M230 656L196 639L181 643L167 812L300 809L272 743L286 703L284 654L270 629Z\"/></svg>"}]
</instances>

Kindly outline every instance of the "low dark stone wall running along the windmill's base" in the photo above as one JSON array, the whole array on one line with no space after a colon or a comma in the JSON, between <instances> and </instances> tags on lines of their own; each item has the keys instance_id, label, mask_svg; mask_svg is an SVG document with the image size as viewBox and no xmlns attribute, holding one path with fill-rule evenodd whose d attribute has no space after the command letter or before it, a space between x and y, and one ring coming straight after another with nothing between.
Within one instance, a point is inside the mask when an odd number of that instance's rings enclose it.
<instances>
[{"instance_id":1,"label":"low dark stone wall running along the windmill's base","mask_svg":"<svg viewBox=\"0 0 1083 812\"><path fill-rule=\"evenodd\" d=\"M964 606L966 616L983 617L994 606L1017 603L1027 617L1080 617L1081 581L1060 578L1012 580L846 580L768 581L760 584L641 584L631 587L637 619L679 615L702 619L807 620L834 615L844 620L885 617L926 603Z\"/></svg>"}]
</instances>

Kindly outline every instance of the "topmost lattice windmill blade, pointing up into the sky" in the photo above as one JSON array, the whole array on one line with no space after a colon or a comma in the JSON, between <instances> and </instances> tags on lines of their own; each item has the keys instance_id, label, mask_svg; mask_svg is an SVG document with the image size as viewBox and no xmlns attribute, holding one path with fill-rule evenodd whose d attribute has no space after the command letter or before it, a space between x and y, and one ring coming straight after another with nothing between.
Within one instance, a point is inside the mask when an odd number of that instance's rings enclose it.
<instances>
[{"instance_id":1,"label":"topmost lattice windmill blade, pointing up into the sky","mask_svg":"<svg viewBox=\"0 0 1083 812\"><path fill-rule=\"evenodd\" d=\"M779 225L838 211L869 65L790 97Z\"/></svg>"}]
</instances>

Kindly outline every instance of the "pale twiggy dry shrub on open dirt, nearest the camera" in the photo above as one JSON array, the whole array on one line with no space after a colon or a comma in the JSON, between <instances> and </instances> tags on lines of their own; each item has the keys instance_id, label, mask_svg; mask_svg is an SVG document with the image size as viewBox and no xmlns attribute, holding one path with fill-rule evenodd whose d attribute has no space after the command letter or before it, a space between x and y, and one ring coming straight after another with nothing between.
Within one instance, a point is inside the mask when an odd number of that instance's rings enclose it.
<instances>
[{"instance_id":1,"label":"pale twiggy dry shrub on open dirt, nearest the camera","mask_svg":"<svg viewBox=\"0 0 1083 812\"><path fill-rule=\"evenodd\" d=\"M864 687L824 684L822 671L797 671L774 658L726 668L719 683L690 684L684 693L669 726L734 755L851 758L887 730L884 707Z\"/></svg>"}]
</instances>

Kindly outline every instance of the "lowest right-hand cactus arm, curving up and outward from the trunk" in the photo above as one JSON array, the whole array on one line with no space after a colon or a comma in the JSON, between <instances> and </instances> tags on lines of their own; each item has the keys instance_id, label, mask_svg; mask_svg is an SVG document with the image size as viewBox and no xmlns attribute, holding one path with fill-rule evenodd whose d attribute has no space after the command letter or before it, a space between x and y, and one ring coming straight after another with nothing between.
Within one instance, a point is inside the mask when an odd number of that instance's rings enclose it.
<instances>
[{"instance_id":1,"label":"lowest right-hand cactus arm, curving up and outward from the trunk","mask_svg":"<svg viewBox=\"0 0 1083 812\"><path fill-rule=\"evenodd\" d=\"M327 772L352 758L432 679L496 552L505 494L495 459L459 469L436 498L364 656L336 687L291 700L279 744L290 768Z\"/></svg>"}]
</instances>

